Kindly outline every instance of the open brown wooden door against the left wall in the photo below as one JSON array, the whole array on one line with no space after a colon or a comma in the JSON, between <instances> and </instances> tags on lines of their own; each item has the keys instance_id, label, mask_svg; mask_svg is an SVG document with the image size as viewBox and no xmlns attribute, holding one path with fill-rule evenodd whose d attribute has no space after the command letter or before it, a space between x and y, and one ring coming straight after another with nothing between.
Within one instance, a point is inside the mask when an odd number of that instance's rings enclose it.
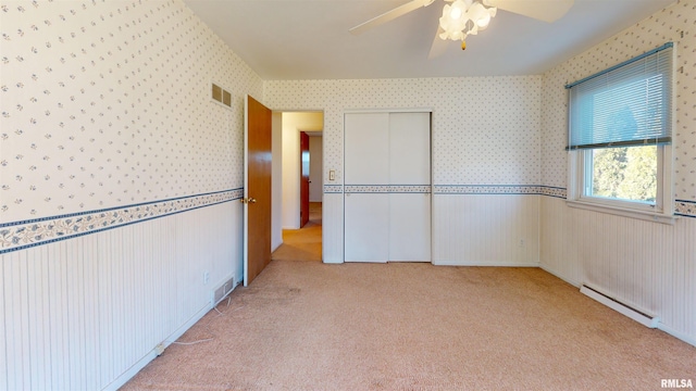
<instances>
[{"instance_id":1,"label":"open brown wooden door against the left wall","mask_svg":"<svg viewBox=\"0 0 696 391\"><path fill-rule=\"evenodd\" d=\"M271 262L271 110L245 100L244 286Z\"/></svg>"}]
</instances>

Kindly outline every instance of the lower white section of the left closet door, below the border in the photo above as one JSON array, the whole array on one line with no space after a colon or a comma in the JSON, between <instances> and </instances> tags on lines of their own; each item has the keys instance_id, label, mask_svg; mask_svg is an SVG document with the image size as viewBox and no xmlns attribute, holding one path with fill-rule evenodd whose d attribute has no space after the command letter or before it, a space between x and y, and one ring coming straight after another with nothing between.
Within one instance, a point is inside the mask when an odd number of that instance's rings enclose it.
<instances>
[{"instance_id":1,"label":"lower white section of the left closet door, below the border","mask_svg":"<svg viewBox=\"0 0 696 391\"><path fill-rule=\"evenodd\" d=\"M387 262L389 194L347 193L344 200L346 262Z\"/></svg>"}]
</instances>

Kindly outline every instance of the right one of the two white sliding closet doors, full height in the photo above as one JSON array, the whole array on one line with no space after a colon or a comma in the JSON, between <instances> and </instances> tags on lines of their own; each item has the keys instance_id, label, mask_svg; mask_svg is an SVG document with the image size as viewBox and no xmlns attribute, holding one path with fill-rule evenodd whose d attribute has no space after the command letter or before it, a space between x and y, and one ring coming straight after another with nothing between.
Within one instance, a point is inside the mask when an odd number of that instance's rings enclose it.
<instances>
[{"instance_id":1,"label":"right one of the two white sliding closet doors, full height","mask_svg":"<svg viewBox=\"0 0 696 391\"><path fill-rule=\"evenodd\" d=\"M389 261L431 261L431 115L389 114Z\"/></svg>"}]
</instances>

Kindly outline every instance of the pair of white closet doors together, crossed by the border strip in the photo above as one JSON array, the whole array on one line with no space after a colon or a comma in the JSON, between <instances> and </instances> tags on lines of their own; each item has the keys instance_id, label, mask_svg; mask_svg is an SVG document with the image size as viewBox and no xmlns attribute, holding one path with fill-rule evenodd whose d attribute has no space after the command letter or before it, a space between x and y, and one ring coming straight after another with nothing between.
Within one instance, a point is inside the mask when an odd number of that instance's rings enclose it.
<instances>
[{"instance_id":1,"label":"pair of white closet doors together, crossed by the border strip","mask_svg":"<svg viewBox=\"0 0 696 391\"><path fill-rule=\"evenodd\" d=\"M430 113L346 114L344 146L346 262L430 262Z\"/></svg>"}]
</instances>

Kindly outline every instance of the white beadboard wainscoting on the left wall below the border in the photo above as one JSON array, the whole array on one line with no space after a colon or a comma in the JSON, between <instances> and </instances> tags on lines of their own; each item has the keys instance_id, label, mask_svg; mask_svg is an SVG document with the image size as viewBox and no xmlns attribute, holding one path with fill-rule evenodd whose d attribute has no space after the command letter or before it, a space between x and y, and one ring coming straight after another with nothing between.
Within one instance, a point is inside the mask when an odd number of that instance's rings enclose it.
<instances>
[{"instance_id":1,"label":"white beadboard wainscoting on the left wall below the border","mask_svg":"<svg viewBox=\"0 0 696 391\"><path fill-rule=\"evenodd\" d=\"M229 200L0 255L0 388L117 389L241 279L241 213Z\"/></svg>"}]
</instances>

